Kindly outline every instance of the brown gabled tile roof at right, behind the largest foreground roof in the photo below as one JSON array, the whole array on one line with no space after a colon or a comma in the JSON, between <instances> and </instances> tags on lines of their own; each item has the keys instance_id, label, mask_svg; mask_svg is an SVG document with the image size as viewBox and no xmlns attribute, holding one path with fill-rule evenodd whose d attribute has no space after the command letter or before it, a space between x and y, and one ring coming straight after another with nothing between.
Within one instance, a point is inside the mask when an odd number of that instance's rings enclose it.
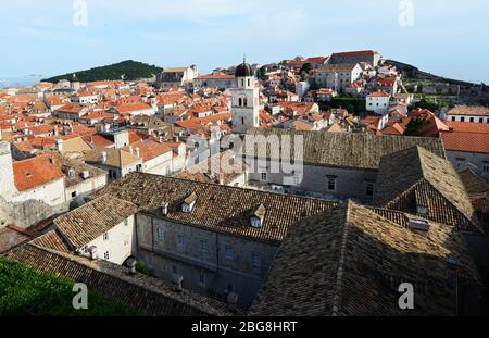
<instances>
[{"instance_id":1,"label":"brown gabled tile roof at right, behind the largest foreground roof","mask_svg":"<svg viewBox=\"0 0 489 338\"><path fill-rule=\"evenodd\" d=\"M422 147L412 147L380 161L377 205L401 210L462 230L477 231L478 221L453 166Z\"/></svg>"}]
</instances>

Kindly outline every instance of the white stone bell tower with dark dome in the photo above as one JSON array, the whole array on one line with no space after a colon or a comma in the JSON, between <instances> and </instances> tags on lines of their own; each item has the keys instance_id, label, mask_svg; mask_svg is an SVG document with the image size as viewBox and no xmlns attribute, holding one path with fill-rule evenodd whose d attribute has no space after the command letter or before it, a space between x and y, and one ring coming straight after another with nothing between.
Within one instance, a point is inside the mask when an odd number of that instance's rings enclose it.
<instances>
[{"instance_id":1,"label":"white stone bell tower with dark dome","mask_svg":"<svg viewBox=\"0 0 489 338\"><path fill-rule=\"evenodd\" d=\"M233 132L246 134L249 128L260 126L260 89L253 68L243 59L235 73L238 87L231 91Z\"/></svg>"}]
</instances>

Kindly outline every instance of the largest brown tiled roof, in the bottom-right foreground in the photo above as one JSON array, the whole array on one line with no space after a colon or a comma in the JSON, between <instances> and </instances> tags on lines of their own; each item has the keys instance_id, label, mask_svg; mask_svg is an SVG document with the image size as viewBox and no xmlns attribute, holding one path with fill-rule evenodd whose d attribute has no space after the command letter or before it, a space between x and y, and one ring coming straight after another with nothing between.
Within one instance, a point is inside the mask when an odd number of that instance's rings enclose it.
<instances>
[{"instance_id":1,"label":"largest brown tiled roof, in the bottom-right foreground","mask_svg":"<svg viewBox=\"0 0 489 338\"><path fill-rule=\"evenodd\" d=\"M461 285L481 286L453 228L430 223L419 235L350 201L290 229L251 315L455 315L452 268ZM403 281L419 292L413 311L398 306Z\"/></svg>"}]
</instances>

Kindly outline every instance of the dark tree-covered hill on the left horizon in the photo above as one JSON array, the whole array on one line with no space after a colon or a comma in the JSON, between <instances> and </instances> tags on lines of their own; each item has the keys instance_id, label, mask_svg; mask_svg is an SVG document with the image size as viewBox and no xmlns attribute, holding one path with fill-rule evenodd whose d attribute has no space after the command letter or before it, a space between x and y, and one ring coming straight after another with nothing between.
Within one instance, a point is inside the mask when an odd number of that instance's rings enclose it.
<instances>
[{"instance_id":1,"label":"dark tree-covered hill on the left horizon","mask_svg":"<svg viewBox=\"0 0 489 338\"><path fill-rule=\"evenodd\" d=\"M97 80L117 80L121 79L123 75L124 79L139 79L139 78L150 78L153 75L161 73L163 68L149 65L146 63L128 60L120 63L105 65L101 67L91 68L88 71L74 72L76 77L83 83L97 82ZM64 74L60 76L54 76L51 78L43 79L42 82L57 83L60 79L71 79L73 73Z\"/></svg>"}]
</instances>

